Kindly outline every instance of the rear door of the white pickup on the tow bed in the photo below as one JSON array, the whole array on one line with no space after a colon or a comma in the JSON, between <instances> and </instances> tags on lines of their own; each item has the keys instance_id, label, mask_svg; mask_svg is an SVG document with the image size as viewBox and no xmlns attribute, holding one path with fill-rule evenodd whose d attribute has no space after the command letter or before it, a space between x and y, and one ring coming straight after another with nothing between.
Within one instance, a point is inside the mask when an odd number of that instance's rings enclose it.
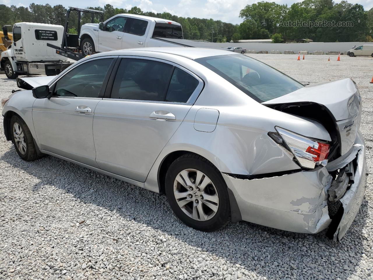
<instances>
[{"instance_id":1,"label":"rear door of the white pickup on the tow bed","mask_svg":"<svg viewBox=\"0 0 373 280\"><path fill-rule=\"evenodd\" d=\"M148 20L128 18L122 39L122 49L144 47L149 27L150 21Z\"/></svg>"}]
</instances>

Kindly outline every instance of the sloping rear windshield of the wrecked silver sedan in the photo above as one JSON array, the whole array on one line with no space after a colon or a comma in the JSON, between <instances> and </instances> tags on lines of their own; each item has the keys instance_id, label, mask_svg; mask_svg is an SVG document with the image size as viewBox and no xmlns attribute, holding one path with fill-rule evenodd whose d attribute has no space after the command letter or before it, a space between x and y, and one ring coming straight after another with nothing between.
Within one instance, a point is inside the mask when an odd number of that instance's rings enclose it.
<instances>
[{"instance_id":1,"label":"sloping rear windshield of the wrecked silver sedan","mask_svg":"<svg viewBox=\"0 0 373 280\"><path fill-rule=\"evenodd\" d=\"M258 102L265 102L304 87L282 72L245 55L195 59Z\"/></svg>"}]
</instances>

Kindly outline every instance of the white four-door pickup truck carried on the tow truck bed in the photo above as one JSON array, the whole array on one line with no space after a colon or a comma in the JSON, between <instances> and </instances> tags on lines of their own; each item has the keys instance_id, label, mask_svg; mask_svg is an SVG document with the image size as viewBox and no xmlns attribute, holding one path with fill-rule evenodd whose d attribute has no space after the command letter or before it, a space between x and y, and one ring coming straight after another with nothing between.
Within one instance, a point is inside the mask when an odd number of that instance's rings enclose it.
<instances>
[{"instance_id":1,"label":"white four-door pickup truck carried on the tow truck bed","mask_svg":"<svg viewBox=\"0 0 373 280\"><path fill-rule=\"evenodd\" d=\"M150 16L119 14L100 24L84 24L79 43L83 55L138 47L175 47L163 39L183 39L181 24Z\"/></svg>"}]
</instances>

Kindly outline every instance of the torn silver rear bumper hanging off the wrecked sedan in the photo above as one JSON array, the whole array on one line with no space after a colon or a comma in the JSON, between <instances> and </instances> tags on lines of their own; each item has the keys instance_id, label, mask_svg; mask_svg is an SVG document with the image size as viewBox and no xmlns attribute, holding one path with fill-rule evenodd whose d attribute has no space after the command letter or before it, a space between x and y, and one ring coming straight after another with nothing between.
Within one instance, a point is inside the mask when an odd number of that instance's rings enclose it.
<instances>
[{"instance_id":1,"label":"torn silver rear bumper hanging off the wrecked sedan","mask_svg":"<svg viewBox=\"0 0 373 280\"><path fill-rule=\"evenodd\" d=\"M355 161L353 181L338 214L328 210L330 171ZM366 187L365 144L360 132L350 152L326 167L261 179L235 178L223 174L235 196L242 220L299 233L317 233L329 227L334 240L341 240L357 215Z\"/></svg>"}]
</instances>

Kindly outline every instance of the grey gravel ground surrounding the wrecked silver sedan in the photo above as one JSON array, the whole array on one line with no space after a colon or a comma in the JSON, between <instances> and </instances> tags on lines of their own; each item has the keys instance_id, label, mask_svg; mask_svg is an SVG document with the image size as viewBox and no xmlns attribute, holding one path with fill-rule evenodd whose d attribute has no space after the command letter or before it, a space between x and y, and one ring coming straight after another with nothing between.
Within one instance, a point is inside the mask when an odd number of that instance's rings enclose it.
<instances>
[{"instance_id":1,"label":"grey gravel ground surrounding the wrecked silver sedan","mask_svg":"<svg viewBox=\"0 0 373 280\"><path fill-rule=\"evenodd\" d=\"M372 57L250 56L303 83L353 78L372 172ZM0 98L14 88L0 75ZM22 161L1 125L0 279L373 279L372 189L369 175L340 243L246 222L203 233L177 220L165 196L50 156Z\"/></svg>"}]
</instances>

